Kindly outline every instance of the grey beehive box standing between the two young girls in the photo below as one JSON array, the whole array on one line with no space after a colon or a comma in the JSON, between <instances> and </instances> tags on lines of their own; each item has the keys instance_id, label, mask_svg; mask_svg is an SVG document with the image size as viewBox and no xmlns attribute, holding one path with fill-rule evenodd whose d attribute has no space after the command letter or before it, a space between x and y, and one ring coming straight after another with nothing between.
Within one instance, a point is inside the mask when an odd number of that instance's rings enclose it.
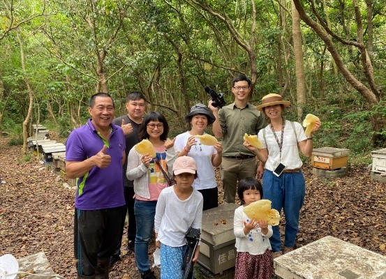
<instances>
[{"instance_id":1,"label":"grey beehive box standing between the two young girls","mask_svg":"<svg viewBox=\"0 0 386 279\"><path fill-rule=\"evenodd\" d=\"M233 216L237 204L223 204L202 213L201 245L198 263L211 273L235 266L236 248Z\"/></svg>"}]
</instances>

